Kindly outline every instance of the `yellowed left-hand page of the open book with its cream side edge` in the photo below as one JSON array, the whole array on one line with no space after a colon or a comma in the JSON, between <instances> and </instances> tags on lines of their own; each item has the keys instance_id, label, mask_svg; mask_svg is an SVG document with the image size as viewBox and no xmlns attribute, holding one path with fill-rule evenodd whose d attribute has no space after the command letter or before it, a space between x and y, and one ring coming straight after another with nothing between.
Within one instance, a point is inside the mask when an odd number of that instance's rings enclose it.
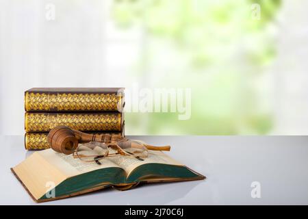
<instances>
[{"instance_id":1,"label":"yellowed left-hand page of the open book with its cream side edge","mask_svg":"<svg viewBox=\"0 0 308 219\"><path fill-rule=\"evenodd\" d=\"M101 165L84 163L72 155L56 153L52 149L38 151L13 168L25 187L37 200L65 179L102 168L119 167L110 160ZM52 185L52 186L51 186Z\"/></svg>"}]
</instances>

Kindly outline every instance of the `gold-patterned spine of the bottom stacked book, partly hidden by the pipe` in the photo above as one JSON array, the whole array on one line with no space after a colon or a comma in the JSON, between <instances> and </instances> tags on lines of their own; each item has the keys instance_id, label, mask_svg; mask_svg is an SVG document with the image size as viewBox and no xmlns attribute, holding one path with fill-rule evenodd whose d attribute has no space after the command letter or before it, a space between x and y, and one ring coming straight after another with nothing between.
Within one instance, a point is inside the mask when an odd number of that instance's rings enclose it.
<instances>
[{"instance_id":1,"label":"gold-patterned spine of the bottom stacked book, partly hidden by the pipe","mask_svg":"<svg viewBox=\"0 0 308 219\"><path fill-rule=\"evenodd\" d=\"M95 133L106 133L106 132L95 132ZM112 133L121 133L123 137L123 132L110 132ZM44 150L49 149L49 144L47 142L48 132L40 132L40 133L25 133L25 149L26 150Z\"/></svg>"}]
</instances>

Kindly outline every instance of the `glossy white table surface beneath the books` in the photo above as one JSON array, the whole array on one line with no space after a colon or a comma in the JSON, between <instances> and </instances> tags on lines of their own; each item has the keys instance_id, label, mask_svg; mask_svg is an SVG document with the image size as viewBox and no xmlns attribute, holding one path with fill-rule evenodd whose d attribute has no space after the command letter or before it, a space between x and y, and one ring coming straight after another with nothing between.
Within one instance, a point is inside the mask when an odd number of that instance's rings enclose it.
<instances>
[{"instance_id":1,"label":"glossy white table surface beneath the books","mask_svg":"<svg viewBox=\"0 0 308 219\"><path fill-rule=\"evenodd\" d=\"M130 137L130 136L128 136ZM170 144L171 157L205 175L203 181L106 189L36 204L10 168L31 154L23 136L0 136L1 205L285 205L308 204L307 136L131 136ZM251 183L261 198L251 197Z\"/></svg>"}]
</instances>

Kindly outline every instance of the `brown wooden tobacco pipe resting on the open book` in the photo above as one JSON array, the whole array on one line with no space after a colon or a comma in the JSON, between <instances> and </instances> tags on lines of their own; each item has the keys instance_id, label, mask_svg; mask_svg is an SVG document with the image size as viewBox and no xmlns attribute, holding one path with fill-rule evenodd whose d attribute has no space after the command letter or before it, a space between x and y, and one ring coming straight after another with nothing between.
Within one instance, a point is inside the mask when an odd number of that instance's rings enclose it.
<instances>
[{"instance_id":1,"label":"brown wooden tobacco pipe resting on the open book","mask_svg":"<svg viewBox=\"0 0 308 219\"><path fill-rule=\"evenodd\" d=\"M47 141L51 149L59 153L69 155L77 149L79 143L86 142L117 142L124 139L120 134L91 134L70 129L66 126L57 126L49 131ZM151 151L170 151L170 146L153 146L149 144L143 144L148 150Z\"/></svg>"}]
</instances>

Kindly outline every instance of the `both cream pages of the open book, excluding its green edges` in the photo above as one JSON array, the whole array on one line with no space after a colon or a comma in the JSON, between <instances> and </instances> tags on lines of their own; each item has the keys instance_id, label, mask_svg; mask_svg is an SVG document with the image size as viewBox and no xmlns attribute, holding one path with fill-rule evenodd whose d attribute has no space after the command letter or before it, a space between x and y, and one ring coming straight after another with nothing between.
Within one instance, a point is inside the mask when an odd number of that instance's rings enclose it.
<instances>
[{"instance_id":1,"label":"both cream pages of the open book, excluding its green edges","mask_svg":"<svg viewBox=\"0 0 308 219\"><path fill-rule=\"evenodd\" d=\"M183 166L162 151L149 151L148 157L143 161L131 156L115 156L106 157L100 162L101 165L95 162L84 163L78 158L73 158L73 155L64 155L47 149L33 153L24 162L12 168L12 171L37 201L48 192L47 183L53 183L53 186L49 187L49 190L52 190L60 183L67 181L66 179L95 172L95 170L123 169L126 172L123 177L129 177L133 170L144 164ZM105 184L103 181L101 183Z\"/></svg>"}]
</instances>

